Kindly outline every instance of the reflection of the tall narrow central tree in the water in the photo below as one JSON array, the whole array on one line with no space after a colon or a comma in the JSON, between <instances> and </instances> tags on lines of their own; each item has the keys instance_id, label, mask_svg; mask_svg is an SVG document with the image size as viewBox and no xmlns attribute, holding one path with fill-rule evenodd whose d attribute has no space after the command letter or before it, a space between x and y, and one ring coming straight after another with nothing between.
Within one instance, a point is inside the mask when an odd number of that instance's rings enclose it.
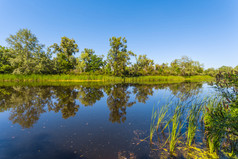
<instances>
[{"instance_id":1,"label":"reflection of the tall narrow central tree in the water","mask_svg":"<svg viewBox=\"0 0 238 159\"><path fill-rule=\"evenodd\" d=\"M129 102L130 93L128 85L117 84L108 91L107 105L110 112L111 122L124 122L126 120L126 108L131 107L135 102Z\"/></svg>"}]
</instances>

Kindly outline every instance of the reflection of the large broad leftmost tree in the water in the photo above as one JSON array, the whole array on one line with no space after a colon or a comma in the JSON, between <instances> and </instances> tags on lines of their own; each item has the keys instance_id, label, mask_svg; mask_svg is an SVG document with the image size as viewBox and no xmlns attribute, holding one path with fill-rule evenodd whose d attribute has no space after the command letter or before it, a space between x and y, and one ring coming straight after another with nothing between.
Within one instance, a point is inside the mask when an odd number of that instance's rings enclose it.
<instances>
[{"instance_id":1,"label":"reflection of the large broad leftmost tree in the water","mask_svg":"<svg viewBox=\"0 0 238 159\"><path fill-rule=\"evenodd\" d=\"M46 111L45 105L51 105L50 89L47 87L8 87L7 91L11 94L5 95L5 102L0 106L7 105L7 109L11 108L9 119L24 128L36 123L40 114Z\"/></svg>"}]
</instances>

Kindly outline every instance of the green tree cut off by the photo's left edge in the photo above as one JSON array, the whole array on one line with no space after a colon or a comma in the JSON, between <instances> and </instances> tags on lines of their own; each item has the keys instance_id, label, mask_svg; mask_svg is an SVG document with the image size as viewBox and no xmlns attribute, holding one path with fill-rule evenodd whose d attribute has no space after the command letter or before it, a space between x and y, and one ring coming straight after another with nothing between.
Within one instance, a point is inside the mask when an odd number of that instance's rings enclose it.
<instances>
[{"instance_id":1,"label":"green tree cut off by the photo's left edge","mask_svg":"<svg viewBox=\"0 0 238 159\"><path fill-rule=\"evenodd\" d=\"M11 73L12 66L10 63L9 50L0 46L0 73Z\"/></svg>"}]
</instances>

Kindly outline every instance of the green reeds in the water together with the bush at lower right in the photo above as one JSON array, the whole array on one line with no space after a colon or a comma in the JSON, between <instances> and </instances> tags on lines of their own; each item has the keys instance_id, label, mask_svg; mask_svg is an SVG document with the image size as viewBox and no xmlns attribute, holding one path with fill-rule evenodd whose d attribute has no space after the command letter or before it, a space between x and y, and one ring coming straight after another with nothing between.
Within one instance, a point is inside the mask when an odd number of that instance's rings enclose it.
<instances>
[{"instance_id":1,"label":"green reeds in the water together with the bush at lower right","mask_svg":"<svg viewBox=\"0 0 238 159\"><path fill-rule=\"evenodd\" d=\"M238 75L220 76L225 80L217 79L218 92L212 97L180 98L171 105L160 106L158 112L154 113L157 114L157 119L153 119L157 120L157 123L153 122L157 134L167 132L166 140L162 143L157 141L160 143L157 145L163 145L158 149L169 152L170 156L238 157ZM196 139L198 131L203 132L200 133L204 139L201 144L201 139Z\"/></svg>"}]
</instances>

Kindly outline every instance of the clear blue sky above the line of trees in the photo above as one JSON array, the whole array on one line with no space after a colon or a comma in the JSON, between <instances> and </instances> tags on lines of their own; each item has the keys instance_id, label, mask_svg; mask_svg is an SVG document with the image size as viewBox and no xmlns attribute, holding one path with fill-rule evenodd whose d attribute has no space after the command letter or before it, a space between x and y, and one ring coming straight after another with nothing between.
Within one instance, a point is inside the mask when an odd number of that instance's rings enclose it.
<instances>
[{"instance_id":1,"label":"clear blue sky above the line of trees","mask_svg":"<svg viewBox=\"0 0 238 159\"><path fill-rule=\"evenodd\" d=\"M67 36L106 55L109 38L123 36L155 63L238 65L238 0L0 0L0 45L20 28L46 46Z\"/></svg>"}]
</instances>

